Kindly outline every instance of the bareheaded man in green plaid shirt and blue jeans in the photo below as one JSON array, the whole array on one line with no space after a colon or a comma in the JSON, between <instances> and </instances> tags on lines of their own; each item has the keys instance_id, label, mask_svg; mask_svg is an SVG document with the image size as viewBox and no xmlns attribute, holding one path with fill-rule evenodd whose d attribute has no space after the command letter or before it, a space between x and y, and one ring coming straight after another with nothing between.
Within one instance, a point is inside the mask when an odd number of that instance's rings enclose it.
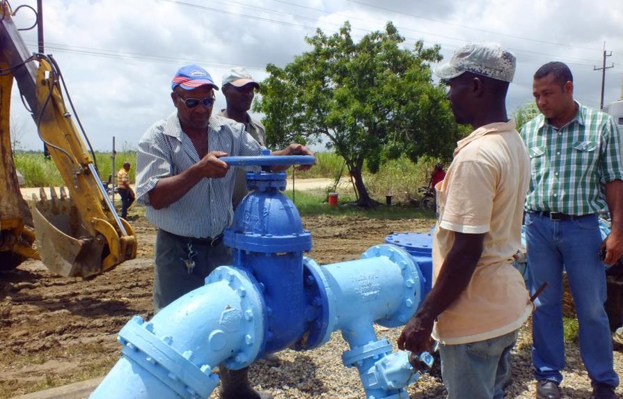
<instances>
[{"instance_id":1,"label":"bareheaded man in green plaid shirt and blue jeans","mask_svg":"<svg viewBox=\"0 0 623 399\"><path fill-rule=\"evenodd\" d=\"M562 269L574 297L580 350L594 398L616 398L612 341L604 311L604 262L623 254L622 139L613 118L574 101L573 77L564 63L543 65L533 94L542 115L521 130L532 176L526 198L528 266L539 295L533 317L537 397L560 398L565 366L562 338ZM599 211L608 207L612 232L601 241Z\"/></svg>"}]
</instances>

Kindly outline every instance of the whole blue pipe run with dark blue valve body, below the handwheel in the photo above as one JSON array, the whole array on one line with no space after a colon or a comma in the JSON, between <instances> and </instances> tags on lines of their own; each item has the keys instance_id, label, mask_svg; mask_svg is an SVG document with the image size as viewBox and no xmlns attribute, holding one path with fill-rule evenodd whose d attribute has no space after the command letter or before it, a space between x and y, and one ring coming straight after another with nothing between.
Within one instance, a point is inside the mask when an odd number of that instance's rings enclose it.
<instances>
[{"instance_id":1,"label":"whole blue pipe run with dark blue valve body, below the handwheel","mask_svg":"<svg viewBox=\"0 0 623 399\"><path fill-rule=\"evenodd\" d=\"M285 173L247 179L254 191L224 235L232 267L218 267L150 322L131 320L119 333L122 359L91 398L206 398L218 383L217 364L235 370L267 352L313 349L338 330L350 346L342 361L358 369L366 398L408 398L404 386L419 374L408 352L393 354L377 339L373 324L397 327L415 313L425 280L414 257L384 244L359 260L317 265L303 258L310 232L280 192Z\"/></svg>"}]
</instances>

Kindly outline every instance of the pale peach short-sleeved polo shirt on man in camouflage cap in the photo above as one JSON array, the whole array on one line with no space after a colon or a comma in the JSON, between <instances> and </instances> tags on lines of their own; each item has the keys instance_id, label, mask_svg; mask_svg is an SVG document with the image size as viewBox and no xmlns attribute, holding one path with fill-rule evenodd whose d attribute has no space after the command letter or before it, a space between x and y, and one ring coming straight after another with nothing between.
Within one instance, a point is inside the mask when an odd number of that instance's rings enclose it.
<instances>
[{"instance_id":1,"label":"pale peach short-sleeved polo shirt on man in camouflage cap","mask_svg":"<svg viewBox=\"0 0 623 399\"><path fill-rule=\"evenodd\" d=\"M480 127L459 141L445 179L436 185L438 220L433 240L433 282L455 232L486 233L471 281L439 317L433 337L457 345L503 336L533 311L512 256L521 247L523 203L530 158L514 120Z\"/></svg>"}]
</instances>

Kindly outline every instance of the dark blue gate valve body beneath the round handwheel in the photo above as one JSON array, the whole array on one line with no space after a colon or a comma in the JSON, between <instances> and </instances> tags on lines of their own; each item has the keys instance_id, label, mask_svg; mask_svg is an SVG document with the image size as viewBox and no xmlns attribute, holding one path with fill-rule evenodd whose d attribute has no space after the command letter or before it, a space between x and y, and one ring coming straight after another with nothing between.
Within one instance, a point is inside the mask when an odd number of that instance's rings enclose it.
<instances>
[{"instance_id":1,"label":"dark blue gate valve body beneath the round handwheel","mask_svg":"<svg viewBox=\"0 0 623 399\"><path fill-rule=\"evenodd\" d=\"M297 207L281 194L285 173L247 173L247 182L254 191L238 205L224 242L232 248L233 266L262 283L267 306L262 350L276 352L305 331L303 251L311 249L311 234L303 230Z\"/></svg>"}]
</instances>

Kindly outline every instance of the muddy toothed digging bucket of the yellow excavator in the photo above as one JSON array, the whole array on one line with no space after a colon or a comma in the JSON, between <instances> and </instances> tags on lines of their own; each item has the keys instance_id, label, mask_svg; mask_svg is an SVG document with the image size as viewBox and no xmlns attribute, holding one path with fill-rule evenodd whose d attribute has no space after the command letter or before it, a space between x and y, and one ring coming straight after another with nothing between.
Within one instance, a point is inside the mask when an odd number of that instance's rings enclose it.
<instances>
[{"instance_id":1,"label":"muddy toothed digging bucket of the yellow excavator","mask_svg":"<svg viewBox=\"0 0 623 399\"><path fill-rule=\"evenodd\" d=\"M104 240L89 235L77 222L80 218L70 198L59 199L55 194L51 200L42 199L33 204L33 223L41 260L50 271L61 276L100 274L102 253L106 247Z\"/></svg>"}]
</instances>

